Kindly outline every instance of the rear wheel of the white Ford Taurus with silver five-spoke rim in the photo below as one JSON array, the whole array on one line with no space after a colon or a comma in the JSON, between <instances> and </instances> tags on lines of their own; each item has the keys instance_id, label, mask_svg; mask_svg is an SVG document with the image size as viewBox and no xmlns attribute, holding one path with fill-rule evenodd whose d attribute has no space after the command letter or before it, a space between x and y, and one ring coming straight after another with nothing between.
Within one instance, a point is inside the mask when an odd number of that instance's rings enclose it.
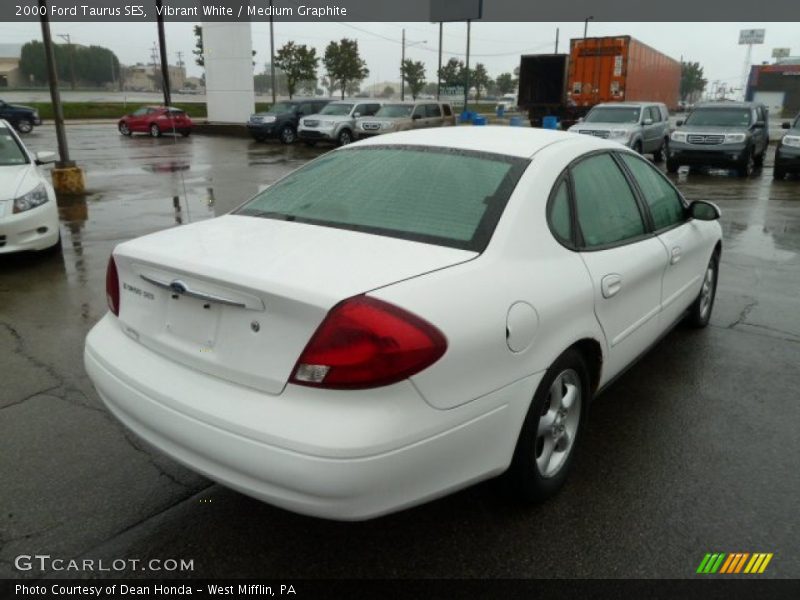
<instances>
[{"instance_id":1,"label":"rear wheel of the white Ford Taurus with silver five-spoke rim","mask_svg":"<svg viewBox=\"0 0 800 600\"><path fill-rule=\"evenodd\" d=\"M589 371L570 348L547 369L522 425L506 478L524 502L553 496L567 478L589 404Z\"/></svg>"}]
</instances>

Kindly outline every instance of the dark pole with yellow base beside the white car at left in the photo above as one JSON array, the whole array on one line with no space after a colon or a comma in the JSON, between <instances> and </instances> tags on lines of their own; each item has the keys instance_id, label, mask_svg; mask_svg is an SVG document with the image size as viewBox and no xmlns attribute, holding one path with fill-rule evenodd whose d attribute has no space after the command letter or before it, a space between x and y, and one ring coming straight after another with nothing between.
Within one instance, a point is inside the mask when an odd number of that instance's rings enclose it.
<instances>
[{"instance_id":1,"label":"dark pole with yellow base beside the white car at left","mask_svg":"<svg viewBox=\"0 0 800 600\"><path fill-rule=\"evenodd\" d=\"M39 0L39 20L42 24L42 43L44 45L45 62L47 63L47 79L50 84L50 101L53 104L53 117L56 126L59 161L52 171L53 187L57 192L65 194L82 194L85 191L83 171L70 160L67 134L64 131L64 109L61 106L61 94L58 90L56 75L56 59L53 52L53 40L50 34L50 21L47 17L47 0Z\"/></svg>"}]
</instances>

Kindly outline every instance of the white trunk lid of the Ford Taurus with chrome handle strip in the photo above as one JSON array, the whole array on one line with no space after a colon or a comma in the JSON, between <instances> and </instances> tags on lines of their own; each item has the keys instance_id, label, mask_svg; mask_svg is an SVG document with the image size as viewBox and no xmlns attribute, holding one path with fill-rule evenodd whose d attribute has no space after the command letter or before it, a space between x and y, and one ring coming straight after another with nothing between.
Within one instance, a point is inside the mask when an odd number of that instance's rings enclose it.
<instances>
[{"instance_id":1,"label":"white trunk lid of the Ford Taurus with chrome handle strip","mask_svg":"<svg viewBox=\"0 0 800 600\"><path fill-rule=\"evenodd\" d=\"M170 359L279 394L335 304L475 256L228 215L118 246L119 319L129 336Z\"/></svg>"}]
</instances>

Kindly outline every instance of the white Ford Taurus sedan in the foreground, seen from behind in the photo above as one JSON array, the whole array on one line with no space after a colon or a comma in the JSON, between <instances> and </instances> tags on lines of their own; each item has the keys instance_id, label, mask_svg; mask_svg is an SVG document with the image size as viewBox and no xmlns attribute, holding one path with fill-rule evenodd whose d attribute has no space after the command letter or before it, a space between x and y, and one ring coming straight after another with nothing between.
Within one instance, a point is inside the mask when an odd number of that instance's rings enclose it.
<instances>
[{"instance_id":1,"label":"white Ford Taurus sedan in the foreground, seen from behind","mask_svg":"<svg viewBox=\"0 0 800 600\"><path fill-rule=\"evenodd\" d=\"M380 136L120 244L86 369L144 440L293 511L365 519L504 472L541 500L592 397L708 323L718 218L601 139Z\"/></svg>"}]
</instances>

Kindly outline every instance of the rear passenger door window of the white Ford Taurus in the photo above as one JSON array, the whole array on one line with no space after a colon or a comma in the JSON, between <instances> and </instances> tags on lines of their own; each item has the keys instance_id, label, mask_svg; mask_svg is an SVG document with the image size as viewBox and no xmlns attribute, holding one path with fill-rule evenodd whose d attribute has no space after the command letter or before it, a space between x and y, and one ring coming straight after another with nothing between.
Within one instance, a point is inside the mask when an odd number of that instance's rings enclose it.
<instances>
[{"instance_id":1,"label":"rear passenger door window of the white Ford Taurus","mask_svg":"<svg viewBox=\"0 0 800 600\"><path fill-rule=\"evenodd\" d=\"M587 248L617 244L643 235L636 198L617 163L598 154L572 167L575 209Z\"/></svg>"}]
</instances>

